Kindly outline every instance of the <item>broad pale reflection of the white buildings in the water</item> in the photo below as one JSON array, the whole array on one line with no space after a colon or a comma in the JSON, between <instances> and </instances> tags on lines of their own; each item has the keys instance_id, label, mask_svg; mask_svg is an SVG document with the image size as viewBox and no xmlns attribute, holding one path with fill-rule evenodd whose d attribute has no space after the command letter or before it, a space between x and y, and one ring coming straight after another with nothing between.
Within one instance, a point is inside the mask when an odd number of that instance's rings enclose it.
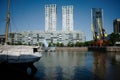
<instances>
[{"instance_id":1,"label":"broad pale reflection of the white buildings in the water","mask_svg":"<svg viewBox=\"0 0 120 80\"><path fill-rule=\"evenodd\" d=\"M49 52L43 53L43 58L36 63L38 73L43 73L42 79L72 80L77 67L85 65L85 52ZM39 66L38 66L39 64ZM40 68L44 69L44 72ZM41 70L41 71L39 71ZM79 75L77 75L79 76Z\"/></svg>"}]
</instances>

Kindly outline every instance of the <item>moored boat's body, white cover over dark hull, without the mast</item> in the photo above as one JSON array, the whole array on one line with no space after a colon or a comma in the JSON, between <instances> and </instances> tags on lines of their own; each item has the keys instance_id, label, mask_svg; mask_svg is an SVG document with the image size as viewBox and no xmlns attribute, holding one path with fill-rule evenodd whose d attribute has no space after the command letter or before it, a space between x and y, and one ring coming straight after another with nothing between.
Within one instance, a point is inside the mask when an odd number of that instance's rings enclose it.
<instances>
[{"instance_id":1,"label":"moored boat's body, white cover over dark hull, without the mast","mask_svg":"<svg viewBox=\"0 0 120 80\"><path fill-rule=\"evenodd\" d=\"M41 52L37 52L30 46L9 46L0 51L0 63L21 64L34 63L42 57Z\"/></svg>"}]
</instances>

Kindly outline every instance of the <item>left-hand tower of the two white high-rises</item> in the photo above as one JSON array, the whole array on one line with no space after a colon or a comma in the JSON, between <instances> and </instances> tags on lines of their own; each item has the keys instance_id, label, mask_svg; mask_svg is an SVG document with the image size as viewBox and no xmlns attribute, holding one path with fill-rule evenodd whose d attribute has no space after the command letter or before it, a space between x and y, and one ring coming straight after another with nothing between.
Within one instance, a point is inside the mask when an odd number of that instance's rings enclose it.
<instances>
[{"instance_id":1,"label":"left-hand tower of the two white high-rises","mask_svg":"<svg viewBox=\"0 0 120 80\"><path fill-rule=\"evenodd\" d=\"M56 31L57 11L56 4L45 5L45 31Z\"/></svg>"}]
</instances>

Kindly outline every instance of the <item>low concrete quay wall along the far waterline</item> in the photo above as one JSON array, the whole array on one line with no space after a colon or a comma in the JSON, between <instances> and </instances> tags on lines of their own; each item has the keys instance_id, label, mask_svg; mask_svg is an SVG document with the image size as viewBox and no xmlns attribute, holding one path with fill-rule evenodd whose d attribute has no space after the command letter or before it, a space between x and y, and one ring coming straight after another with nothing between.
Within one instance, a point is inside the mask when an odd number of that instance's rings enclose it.
<instances>
[{"instance_id":1,"label":"low concrete quay wall along the far waterline","mask_svg":"<svg viewBox=\"0 0 120 80\"><path fill-rule=\"evenodd\" d=\"M56 47L57 51L113 51L119 52L119 46L105 46L105 47Z\"/></svg>"}]
</instances>

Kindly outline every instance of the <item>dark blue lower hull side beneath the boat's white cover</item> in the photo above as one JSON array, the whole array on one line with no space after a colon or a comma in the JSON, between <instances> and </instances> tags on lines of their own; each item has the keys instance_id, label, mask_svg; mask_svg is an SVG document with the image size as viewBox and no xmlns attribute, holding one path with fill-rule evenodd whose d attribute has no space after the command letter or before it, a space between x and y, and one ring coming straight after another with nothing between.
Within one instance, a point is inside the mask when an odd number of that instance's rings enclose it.
<instances>
[{"instance_id":1,"label":"dark blue lower hull side beneath the boat's white cover","mask_svg":"<svg viewBox=\"0 0 120 80\"><path fill-rule=\"evenodd\" d=\"M37 54L39 56L34 55L20 55L20 56L11 56L11 55L0 55L0 62L1 63L34 63L38 60L40 60L41 56L40 54Z\"/></svg>"}]
</instances>

